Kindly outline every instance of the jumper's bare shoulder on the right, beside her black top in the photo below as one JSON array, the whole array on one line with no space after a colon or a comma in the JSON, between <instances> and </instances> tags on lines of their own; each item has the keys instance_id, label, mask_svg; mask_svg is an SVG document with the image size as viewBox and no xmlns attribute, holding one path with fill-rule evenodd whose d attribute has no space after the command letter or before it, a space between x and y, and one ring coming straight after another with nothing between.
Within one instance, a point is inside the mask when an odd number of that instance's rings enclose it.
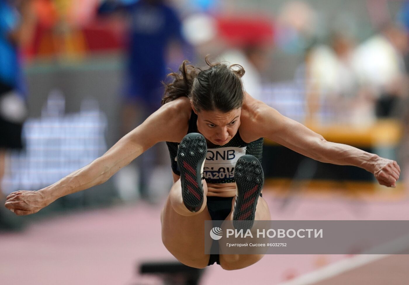
<instances>
[{"instance_id":1,"label":"jumper's bare shoulder on the right, beside her black top","mask_svg":"<svg viewBox=\"0 0 409 285\"><path fill-rule=\"evenodd\" d=\"M252 96L250 96L247 92L245 92L246 98L241 108L241 115L240 115L240 136L245 142L252 142L254 140L259 139L260 133L258 132L259 129L259 118L260 114L268 106Z\"/></svg>"}]
</instances>

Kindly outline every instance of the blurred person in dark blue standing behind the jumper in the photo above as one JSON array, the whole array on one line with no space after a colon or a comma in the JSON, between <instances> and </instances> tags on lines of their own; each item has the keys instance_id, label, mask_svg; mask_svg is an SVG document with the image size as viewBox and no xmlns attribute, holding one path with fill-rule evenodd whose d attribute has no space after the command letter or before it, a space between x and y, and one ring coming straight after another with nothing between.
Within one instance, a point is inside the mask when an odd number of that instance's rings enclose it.
<instances>
[{"instance_id":1,"label":"blurred person in dark blue standing behind the jumper","mask_svg":"<svg viewBox=\"0 0 409 285\"><path fill-rule=\"evenodd\" d=\"M169 55L172 61L177 62L180 62L183 57L181 47L184 40L181 34L181 22L177 13L163 0L139 0L132 4L124 4L119 0L107 0L101 4L98 12L100 15L123 12L126 13L129 20L126 87L121 112L121 136L123 136L160 107L160 99L164 92L161 82L166 76L166 56ZM166 156L155 155L154 151L162 153L166 151L166 148L156 147L142 156L141 165L143 167L140 167L139 176L142 198L155 198L148 197L148 195L157 191L148 188L151 188L149 185L155 184L155 181L151 180L155 177L152 175L153 172L163 172L161 170L163 167L155 169L154 165L168 163L163 159L155 163L155 158ZM120 174L128 178L136 174L136 170L129 167L128 172L121 171ZM127 178L121 177L118 180L127 180ZM154 188L162 189L163 187Z\"/></svg>"}]
</instances>

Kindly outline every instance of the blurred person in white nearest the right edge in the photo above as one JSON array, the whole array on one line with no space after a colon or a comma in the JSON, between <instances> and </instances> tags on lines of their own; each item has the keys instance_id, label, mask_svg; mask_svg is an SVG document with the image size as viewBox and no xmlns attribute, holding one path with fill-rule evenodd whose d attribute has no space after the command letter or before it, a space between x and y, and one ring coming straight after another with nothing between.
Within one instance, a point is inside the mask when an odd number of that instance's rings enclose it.
<instances>
[{"instance_id":1,"label":"blurred person in white nearest the right edge","mask_svg":"<svg viewBox=\"0 0 409 285\"><path fill-rule=\"evenodd\" d=\"M407 93L404 56L409 50L407 30L385 24L378 35L358 47L354 64L360 84L371 91L378 118L396 116L396 108Z\"/></svg>"}]
</instances>

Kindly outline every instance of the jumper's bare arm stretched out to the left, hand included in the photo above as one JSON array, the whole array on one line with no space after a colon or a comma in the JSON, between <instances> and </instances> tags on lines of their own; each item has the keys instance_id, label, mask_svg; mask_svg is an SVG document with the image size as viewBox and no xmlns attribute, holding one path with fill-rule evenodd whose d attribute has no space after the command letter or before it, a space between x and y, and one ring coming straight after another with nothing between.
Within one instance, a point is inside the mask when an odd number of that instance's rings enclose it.
<instances>
[{"instance_id":1,"label":"jumper's bare arm stretched out to the left, hand included","mask_svg":"<svg viewBox=\"0 0 409 285\"><path fill-rule=\"evenodd\" d=\"M169 106L166 106L168 104ZM58 198L106 182L119 169L157 142L173 140L172 125L182 124L178 122L180 116L174 114L175 108L168 104L149 116L145 122L89 165L38 191L13 192L7 196L5 207L17 215L34 214Z\"/></svg>"}]
</instances>

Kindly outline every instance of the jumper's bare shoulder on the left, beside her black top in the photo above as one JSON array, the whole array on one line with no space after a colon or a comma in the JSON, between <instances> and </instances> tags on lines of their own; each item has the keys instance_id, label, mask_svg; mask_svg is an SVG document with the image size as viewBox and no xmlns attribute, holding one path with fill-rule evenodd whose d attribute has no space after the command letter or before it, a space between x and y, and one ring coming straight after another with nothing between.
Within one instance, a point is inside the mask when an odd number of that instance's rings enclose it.
<instances>
[{"instance_id":1,"label":"jumper's bare shoulder on the left, beside her black top","mask_svg":"<svg viewBox=\"0 0 409 285\"><path fill-rule=\"evenodd\" d=\"M192 107L187 97L180 97L164 104L157 112L171 130L168 141L180 142L187 134Z\"/></svg>"}]
</instances>

